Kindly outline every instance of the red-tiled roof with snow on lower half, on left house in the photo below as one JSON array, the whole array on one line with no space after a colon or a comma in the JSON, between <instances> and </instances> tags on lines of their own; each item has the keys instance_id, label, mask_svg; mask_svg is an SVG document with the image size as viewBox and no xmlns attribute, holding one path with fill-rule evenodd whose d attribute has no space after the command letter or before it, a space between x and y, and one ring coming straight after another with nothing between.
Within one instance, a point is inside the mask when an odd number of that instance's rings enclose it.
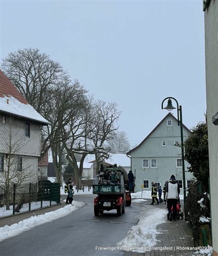
<instances>
[{"instance_id":1,"label":"red-tiled roof with snow on lower half, on left house","mask_svg":"<svg viewBox=\"0 0 218 256\"><path fill-rule=\"evenodd\" d=\"M23 119L29 119L41 125L47 125L48 121L38 113L34 107L11 83L6 75L0 70L0 112L12 114Z\"/></svg>"}]
</instances>

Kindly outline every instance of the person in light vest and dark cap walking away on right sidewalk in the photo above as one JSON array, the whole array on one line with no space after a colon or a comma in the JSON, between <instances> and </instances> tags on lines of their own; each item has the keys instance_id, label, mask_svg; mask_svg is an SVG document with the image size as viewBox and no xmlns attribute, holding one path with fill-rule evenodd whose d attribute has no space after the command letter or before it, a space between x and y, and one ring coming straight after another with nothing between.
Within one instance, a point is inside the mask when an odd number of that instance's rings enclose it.
<instances>
[{"instance_id":1,"label":"person in light vest and dark cap walking away on right sidewalk","mask_svg":"<svg viewBox=\"0 0 218 256\"><path fill-rule=\"evenodd\" d=\"M180 188L178 182L174 175L170 177L169 182L166 185L166 197L167 200L167 208L169 214L172 213L172 220L176 220L176 206L179 198ZM173 207L173 212L171 212L171 208Z\"/></svg>"}]
</instances>

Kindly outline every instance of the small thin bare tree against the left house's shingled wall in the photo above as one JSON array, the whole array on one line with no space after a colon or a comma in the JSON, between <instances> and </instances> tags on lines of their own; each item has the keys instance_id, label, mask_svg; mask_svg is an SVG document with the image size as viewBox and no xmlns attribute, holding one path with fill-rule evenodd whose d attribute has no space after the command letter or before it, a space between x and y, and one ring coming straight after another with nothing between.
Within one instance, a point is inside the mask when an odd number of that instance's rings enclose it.
<instances>
[{"instance_id":1,"label":"small thin bare tree against the left house's shingled wall","mask_svg":"<svg viewBox=\"0 0 218 256\"><path fill-rule=\"evenodd\" d=\"M18 152L28 143L24 142L24 136L17 137L17 133L12 131L12 125L10 125L8 134L0 134L0 137L6 152L3 158L3 175L0 183L4 190L6 210L9 210L13 184L16 184L17 189L22 189L31 180L36 182L37 172L24 157L18 155Z\"/></svg>"}]
</instances>

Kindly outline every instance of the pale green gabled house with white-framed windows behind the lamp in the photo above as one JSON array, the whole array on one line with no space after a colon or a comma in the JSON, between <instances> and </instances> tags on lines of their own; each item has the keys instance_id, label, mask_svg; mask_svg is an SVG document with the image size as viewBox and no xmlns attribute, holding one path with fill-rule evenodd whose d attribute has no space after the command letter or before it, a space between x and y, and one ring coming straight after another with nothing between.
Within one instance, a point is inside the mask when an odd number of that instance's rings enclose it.
<instances>
[{"instance_id":1,"label":"pale green gabled house with white-framed windows behind the lamp","mask_svg":"<svg viewBox=\"0 0 218 256\"><path fill-rule=\"evenodd\" d=\"M184 140L189 135L189 129L184 125ZM183 194L183 172L181 148L175 144L181 143L178 120L168 113L153 131L134 149L126 153L131 157L132 172L136 171L135 191L151 190L151 182L157 186L165 184L174 174ZM188 163L185 162L185 171ZM186 184L189 187L193 175L185 173Z\"/></svg>"}]
</instances>

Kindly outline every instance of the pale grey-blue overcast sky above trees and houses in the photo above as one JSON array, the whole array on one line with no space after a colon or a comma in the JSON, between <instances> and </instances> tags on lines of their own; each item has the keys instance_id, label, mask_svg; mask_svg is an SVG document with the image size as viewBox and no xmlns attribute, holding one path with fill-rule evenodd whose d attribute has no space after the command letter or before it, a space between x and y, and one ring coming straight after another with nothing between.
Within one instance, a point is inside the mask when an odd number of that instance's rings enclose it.
<instances>
[{"instance_id":1,"label":"pale grey-blue overcast sky above trees and houses","mask_svg":"<svg viewBox=\"0 0 218 256\"><path fill-rule=\"evenodd\" d=\"M204 120L202 0L1 0L0 27L1 59L18 48L49 54L96 99L118 103L132 146L168 113L167 96L188 128Z\"/></svg>"}]
</instances>

